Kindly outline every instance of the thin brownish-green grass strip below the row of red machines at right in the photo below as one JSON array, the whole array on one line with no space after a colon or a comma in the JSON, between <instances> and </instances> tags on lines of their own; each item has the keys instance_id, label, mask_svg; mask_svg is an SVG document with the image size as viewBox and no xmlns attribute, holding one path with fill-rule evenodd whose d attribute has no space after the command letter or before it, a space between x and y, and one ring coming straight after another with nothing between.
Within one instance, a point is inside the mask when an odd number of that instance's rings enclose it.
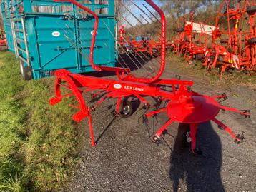
<instances>
[{"instance_id":1,"label":"thin brownish-green grass strip below the row of red machines at right","mask_svg":"<svg viewBox=\"0 0 256 192\"><path fill-rule=\"evenodd\" d=\"M182 70L189 76L205 79L205 81L209 82L210 85L228 88L230 86L250 86L256 84L255 71L230 70L225 72L222 75L222 78L220 78L219 69L212 69L211 71L202 69L200 61L193 61L193 64L189 65L184 61L184 58L173 53L168 53L167 59L171 63L172 69Z\"/></svg>"}]
</instances>

